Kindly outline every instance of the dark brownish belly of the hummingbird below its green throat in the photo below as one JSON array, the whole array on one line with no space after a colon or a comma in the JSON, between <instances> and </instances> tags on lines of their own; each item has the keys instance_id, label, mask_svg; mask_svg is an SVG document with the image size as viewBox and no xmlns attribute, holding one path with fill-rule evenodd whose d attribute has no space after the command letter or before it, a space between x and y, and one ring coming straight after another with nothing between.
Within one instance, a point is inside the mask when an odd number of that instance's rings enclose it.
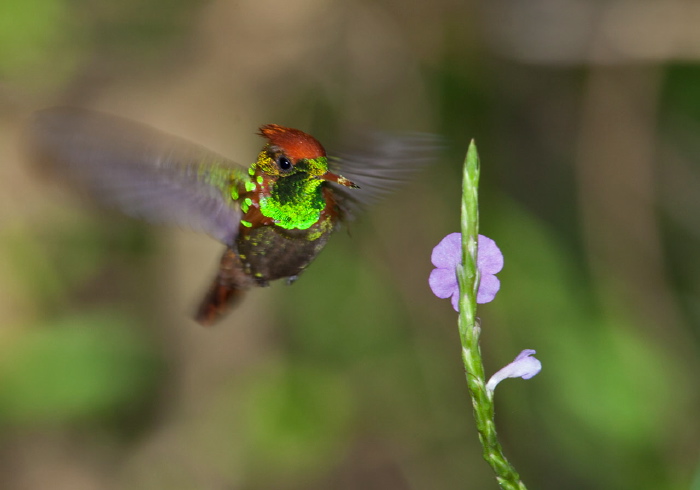
<instances>
[{"instance_id":1,"label":"dark brownish belly of the hummingbird below its green throat","mask_svg":"<svg viewBox=\"0 0 700 490\"><path fill-rule=\"evenodd\" d=\"M332 232L330 219L306 230L278 226L246 229L238 237L245 272L266 286L268 281L299 275L323 249Z\"/></svg>"}]
</instances>

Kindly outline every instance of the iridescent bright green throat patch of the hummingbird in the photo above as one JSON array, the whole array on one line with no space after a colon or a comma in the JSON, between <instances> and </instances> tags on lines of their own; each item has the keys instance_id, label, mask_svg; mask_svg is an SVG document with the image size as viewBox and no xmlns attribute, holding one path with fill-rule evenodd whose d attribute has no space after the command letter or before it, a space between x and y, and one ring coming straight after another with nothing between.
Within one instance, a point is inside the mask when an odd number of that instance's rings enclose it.
<instances>
[{"instance_id":1,"label":"iridescent bright green throat patch of the hummingbird","mask_svg":"<svg viewBox=\"0 0 700 490\"><path fill-rule=\"evenodd\" d=\"M308 165L325 164L325 158L317 160L310 160ZM278 178L270 195L260 198L260 212L275 220L277 226L306 230L318 221L326 207L323 181L314 176L322 175L325 170L319 172L316 168L304 168L306 166L298 164L295 173ZM322 166L327 168L327 164Z\"/></svg>"}]
</instances>

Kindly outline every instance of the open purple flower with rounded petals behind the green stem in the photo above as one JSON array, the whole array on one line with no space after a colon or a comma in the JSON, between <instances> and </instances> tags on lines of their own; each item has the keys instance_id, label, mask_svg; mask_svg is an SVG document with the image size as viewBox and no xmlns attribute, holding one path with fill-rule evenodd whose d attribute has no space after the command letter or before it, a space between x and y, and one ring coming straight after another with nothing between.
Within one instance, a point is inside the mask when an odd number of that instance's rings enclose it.
<instances>
[{"instance_id":1,"label":"open purple flower with rounded petals behind the green stem","mask_svg":"<svg viewBox=\"0 0 700 490\"><path fill-rule=\"evenodd\" d=\"M476 266L481 274L477 303L493 301L501 287L501 281L494 275L503 269L503 254L496 242L484 235L479 235ZM433 249L430 257L437 267L430 273L428 283L433 294L438 298L452 297L452 307L459 311L459 284L457 283L457 265L462 262L462 235L450 233Z\"/></svg>"}]
</instances>

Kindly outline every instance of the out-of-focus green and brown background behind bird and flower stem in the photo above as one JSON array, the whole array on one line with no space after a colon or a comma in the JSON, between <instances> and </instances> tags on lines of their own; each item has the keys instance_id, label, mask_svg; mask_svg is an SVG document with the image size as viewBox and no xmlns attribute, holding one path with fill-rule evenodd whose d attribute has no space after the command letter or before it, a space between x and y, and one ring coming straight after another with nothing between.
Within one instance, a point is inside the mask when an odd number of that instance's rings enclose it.
<instances>
[{"instance_id":1,"label":"out-of-focus green and brown background behind bird and flower stem","mask_svg":"<svg viewBox=\"0 0 700 490\"><path fill-rule=\"evenodd\" d=\"M427 284L482 158L480 308L530 488L700 489L700 7L692 0L3 0L0 488L495 489ZM190 320L221 245L105 211L18 150L89 107L242 164L275 122L440 133L292 287Z\"/></svg>"}]
</instances>

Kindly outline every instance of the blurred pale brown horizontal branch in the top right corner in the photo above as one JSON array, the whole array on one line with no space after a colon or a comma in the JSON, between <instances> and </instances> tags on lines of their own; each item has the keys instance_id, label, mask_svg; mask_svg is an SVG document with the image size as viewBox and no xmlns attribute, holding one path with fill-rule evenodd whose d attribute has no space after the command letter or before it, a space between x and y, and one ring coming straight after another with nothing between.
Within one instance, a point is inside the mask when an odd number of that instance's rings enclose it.
<instances>
[{"instance_id":1,"label":"blurred pale brown horizontal branch in the top right corner","mask_svg":"<svg viewBox=\"0 0 700 490\"><path fill-rule=\"evenodd\" d=\"M486 39L526 63L606 64L700 58L693 0L496 0Z\"/></svg>"}]
</instances>

